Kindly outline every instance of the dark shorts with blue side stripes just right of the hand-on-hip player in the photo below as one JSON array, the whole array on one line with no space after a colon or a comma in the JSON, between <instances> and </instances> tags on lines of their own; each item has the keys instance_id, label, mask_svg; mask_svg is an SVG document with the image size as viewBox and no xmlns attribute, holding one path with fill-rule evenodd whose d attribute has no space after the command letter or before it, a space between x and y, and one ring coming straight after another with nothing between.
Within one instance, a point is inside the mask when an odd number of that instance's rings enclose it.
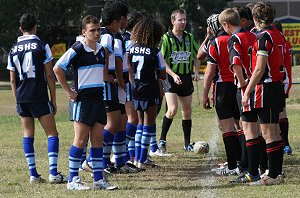
<instances>
[{"instance_id":1,"label":"dark shorts with blue side stripes just right of the hand-on-hip player","mask_svg":"<svg viewBox=\"0 0 300 198\"><path fill-rule=\"evenodd\" d=\"M118 87L115 83L104 82L103 100L107 113L120 110Z\"/></svg>"}]
</instances>

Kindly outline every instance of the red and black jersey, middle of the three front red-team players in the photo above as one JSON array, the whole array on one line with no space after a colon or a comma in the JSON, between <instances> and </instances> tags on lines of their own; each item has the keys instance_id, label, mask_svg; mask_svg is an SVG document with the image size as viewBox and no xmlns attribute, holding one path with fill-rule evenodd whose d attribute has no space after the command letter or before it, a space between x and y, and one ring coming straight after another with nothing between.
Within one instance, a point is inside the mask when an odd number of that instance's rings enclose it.
<instances>
[{"instance_id":1,"label":"red and black jersey, middle of the three front red-team players","mask_svg":"<svg viewBox=\"0 0 300 198\"><path fill-rule=\"evenodd\" d=\"M245 78L250 78L252 74L251 57L252 46L256 40L255 34L241 28L233 34L228 40L228 50L230 56L230 70L233 65L239 65L243 68Z\"/></svg>"}]
</instances>

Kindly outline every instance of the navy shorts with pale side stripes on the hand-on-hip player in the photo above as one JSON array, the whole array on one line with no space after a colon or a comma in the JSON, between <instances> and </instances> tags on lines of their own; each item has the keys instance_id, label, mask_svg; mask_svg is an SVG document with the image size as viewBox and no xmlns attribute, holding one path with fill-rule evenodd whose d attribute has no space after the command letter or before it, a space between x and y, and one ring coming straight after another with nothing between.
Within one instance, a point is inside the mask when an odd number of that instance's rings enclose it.
<instances>
[{"instance_id":1,"label":"navy shorts with pale side stripes on the hand-on-hip player","mask_svg":"<svg viewBox=\"0 0 300 198\"><path fill-rule=\"evenodd\" d=\"M101 101L76 101L70 102L70 120L78 121L88 126L95 123L106 124L104 102Z\"/></svg>"}]
</instances>

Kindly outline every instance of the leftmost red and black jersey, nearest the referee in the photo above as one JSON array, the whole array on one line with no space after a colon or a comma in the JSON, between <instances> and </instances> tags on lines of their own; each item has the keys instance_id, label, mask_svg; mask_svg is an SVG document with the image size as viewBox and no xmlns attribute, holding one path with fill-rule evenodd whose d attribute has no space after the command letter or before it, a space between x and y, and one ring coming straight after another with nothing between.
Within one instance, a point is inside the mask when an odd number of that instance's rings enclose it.
<instances>
[{"instance_id":1,"label":"leftmost red and black jersey, nearest the referee","mask_svg":"<svg viewBox=\"0 0 300 198\"><path fill-rule=\"evenodd\" d=\"M234 82L234 75L230 71L228 39L230 36L222 32L218 37L210 42L208 47L207 62L216 64L217 70L214 76L214 82Z\"/></svg>"}]
</instances>

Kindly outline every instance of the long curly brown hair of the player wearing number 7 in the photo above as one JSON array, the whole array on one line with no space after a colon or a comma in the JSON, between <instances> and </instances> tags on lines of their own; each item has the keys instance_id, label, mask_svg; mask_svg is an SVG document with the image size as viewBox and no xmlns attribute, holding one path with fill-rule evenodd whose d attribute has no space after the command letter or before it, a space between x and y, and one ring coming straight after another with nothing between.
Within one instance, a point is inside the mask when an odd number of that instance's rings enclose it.
<instances>
[{"instance_id":1,"label":"long curly brown hair of the player wearing number 7","mask_svg":"<svg viewBox=\"0 0 300 198\"><path fill-rule=\"evenodd\" d=\"M164 28L158 21L145 18L134 26L131 39L146 47L155 48L158 46L163 32Z\"/></svg>"}]
</instances>

